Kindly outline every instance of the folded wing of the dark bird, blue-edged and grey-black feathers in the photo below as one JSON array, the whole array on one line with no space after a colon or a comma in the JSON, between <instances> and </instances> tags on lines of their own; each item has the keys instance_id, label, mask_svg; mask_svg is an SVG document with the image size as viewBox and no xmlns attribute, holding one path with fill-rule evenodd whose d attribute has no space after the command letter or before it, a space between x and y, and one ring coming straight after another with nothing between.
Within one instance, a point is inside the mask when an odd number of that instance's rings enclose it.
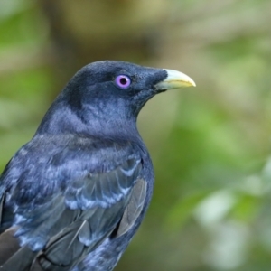
<instances>
[{"instance_id":1,"label":"folded wing of the dark bird, blue-edged and grey-black feathers","mask_svg":"<svg viewBox=\"0 0 271 271\"><path fill-rule=\"evenodd\" d=\"M1 270L70 270L109 235L118 238L133 227L146 193L138 157L100 173L74 165L69 173L67 164L59 164L51 176L63 180L38 186L32 200L28 182L0 194ZM60 187L54 189L56 183ZM45 198L39 189L47 190Z\"/></svg>"}]
</instances>

